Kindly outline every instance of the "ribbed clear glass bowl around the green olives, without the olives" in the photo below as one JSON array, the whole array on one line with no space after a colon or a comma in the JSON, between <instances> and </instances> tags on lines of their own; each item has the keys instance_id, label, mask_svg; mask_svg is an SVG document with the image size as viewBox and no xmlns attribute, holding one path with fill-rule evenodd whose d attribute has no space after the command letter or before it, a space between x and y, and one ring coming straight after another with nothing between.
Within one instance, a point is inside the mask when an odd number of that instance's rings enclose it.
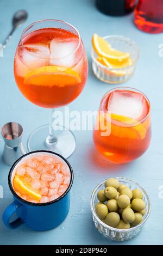
<instances>
[{"instance_id":1,"label":"ribbed clear glass bowl around the green olives, without the olives","mask_svg":"<svg viewBox=\"0 0 163 256\"><path fill-rule=\"evenodd\" d=\"M149 214L151 212L151 201L149 199L149 196L147 192L135 181L127 179L127 178L122 178L122 177L116 177L120 181L120 184L125 184L128 186L131 190L134 190L135 188L138 188L139 190L142 191L143 193L143 200L145 201L146 204L146 213L143 216L143 220L140 224L136 225L133 228L129 229L117 229L117 228L112 228L105 223L103 223L98 216L96 215L95 211L95 205L98 202L97 199L97 193L99 190L103 190L105 188L105 181L102 181L99 183L96 187L95 190L92 192L91 196L91 211L92 211L92 217L93 217L93 222L95 223L96 228L98 231L103 234L105 237L111 240L115 241L125 241L125 240L130 240L133 237L135 237L137 234L140 233L142 230L143 226L145 225Z\"/></svg>"}]
</instances>

